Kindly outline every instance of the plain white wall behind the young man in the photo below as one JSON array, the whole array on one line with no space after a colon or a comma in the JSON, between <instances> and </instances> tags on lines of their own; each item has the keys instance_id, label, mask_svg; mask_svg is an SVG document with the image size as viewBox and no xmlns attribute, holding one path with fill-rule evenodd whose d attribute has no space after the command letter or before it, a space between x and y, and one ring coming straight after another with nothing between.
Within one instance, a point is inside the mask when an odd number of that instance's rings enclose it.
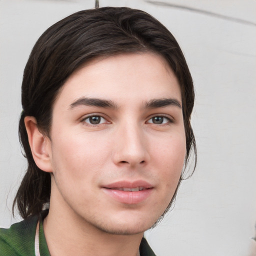
<instances>
[{"instance_id":1,"label":"plain white wall behind the young man","mask_svg":"<svg viewBox=\"0 0 256 256\"><path fill-rule=\"evenodd\" d=\"M25 169L17 126L29 52L48 26L93 4L0 0L0 226L19 220L10 211ZM198 165L149 243L159 256L256 255L256 1L100 0L107 5L143 9L167 26L196 89Z\"/></svg>"}]
</instances>

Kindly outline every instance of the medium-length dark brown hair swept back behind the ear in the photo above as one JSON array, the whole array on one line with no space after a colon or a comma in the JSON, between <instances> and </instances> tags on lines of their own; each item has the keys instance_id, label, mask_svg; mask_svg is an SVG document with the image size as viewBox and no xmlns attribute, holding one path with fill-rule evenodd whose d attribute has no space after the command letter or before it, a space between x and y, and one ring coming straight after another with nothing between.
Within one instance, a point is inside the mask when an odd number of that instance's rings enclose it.
<instances>
[{"instance_id":1,"label":"medium-length dark brown hair swept back behind the ear","mask_svg":"<svg viewBox=\"0 0 256 256\"><path fill-rule=\"evenodd\" d=\"M126 7L82 10L50 26L35 43L24 68L19 140L28 166L14 198L12 211L17 204L20 215L26 218L39 213L50 198L50 173L39 169L33 160L24 117L34 116L39 130L49 136L52 105L69 75L93 58L125 52L159 54L175 73L181 89L186 136L184 166L191 151L194 151L196 162L195 139L190 125L194 103L193 82L173 35L141 10Z\"/></svg>"}]
</instances>

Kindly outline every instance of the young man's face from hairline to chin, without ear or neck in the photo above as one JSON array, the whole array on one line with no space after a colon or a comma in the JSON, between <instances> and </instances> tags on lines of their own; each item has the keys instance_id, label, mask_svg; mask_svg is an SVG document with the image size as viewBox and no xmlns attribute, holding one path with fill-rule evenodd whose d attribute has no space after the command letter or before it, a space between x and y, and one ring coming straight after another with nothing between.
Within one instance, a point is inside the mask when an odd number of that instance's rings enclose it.
<instances>
[{"instance_id":1,"label":"young man's face from hairline to chin, without ear or neck","mask_svg":"<svg viewBox=\"0 0 256 256\"><path fill-rule=\"evenodd\" d=\"M158 55L120 54L75 71L53 104L51 205L103 232L148 229L182 170L181 107Z\"/></svg>"}]
</instances>

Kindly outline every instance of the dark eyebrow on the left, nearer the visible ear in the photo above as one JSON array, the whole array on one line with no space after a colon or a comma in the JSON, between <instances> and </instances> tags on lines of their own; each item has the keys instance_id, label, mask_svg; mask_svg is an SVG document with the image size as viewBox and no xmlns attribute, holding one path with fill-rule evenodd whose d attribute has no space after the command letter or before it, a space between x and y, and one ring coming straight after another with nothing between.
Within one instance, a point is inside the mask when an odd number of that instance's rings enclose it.
<instances>
[{"instance_id":1,"label":"dark eyebrow on the left, nearer the visible ear","mask_svg":"<svg viewBox=\"0 0 256 256\"><path fill-rule=\"evenodd\" d=\"M118 108L118 105L115 104L112 100L100 99L100 98L89 98L89 97L80 97L76 99L73 103L69 105L69 108L74 108L76 106L96 106L96 107L105 107L105 108Z\"/></svg>"}]
</instances>

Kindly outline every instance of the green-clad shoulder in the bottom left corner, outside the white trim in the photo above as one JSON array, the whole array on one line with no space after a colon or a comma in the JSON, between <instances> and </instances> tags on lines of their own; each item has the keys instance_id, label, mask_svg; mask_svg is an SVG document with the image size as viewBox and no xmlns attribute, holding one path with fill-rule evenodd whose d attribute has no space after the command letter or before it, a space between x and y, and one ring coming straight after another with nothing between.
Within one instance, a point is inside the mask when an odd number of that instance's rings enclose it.
<instances>
[{"instance_id":1,"label":"green-clad shoulder in the bottom left corner, outside the white trim","mask_svg":"<svg viewBox=\"0 0 256 256\"><path fill-rule=\"evenodd\" d=\"M9 228L0 228L0 255L33 255L37 219L29 216Z\"/></svg>"}]
</instances>

